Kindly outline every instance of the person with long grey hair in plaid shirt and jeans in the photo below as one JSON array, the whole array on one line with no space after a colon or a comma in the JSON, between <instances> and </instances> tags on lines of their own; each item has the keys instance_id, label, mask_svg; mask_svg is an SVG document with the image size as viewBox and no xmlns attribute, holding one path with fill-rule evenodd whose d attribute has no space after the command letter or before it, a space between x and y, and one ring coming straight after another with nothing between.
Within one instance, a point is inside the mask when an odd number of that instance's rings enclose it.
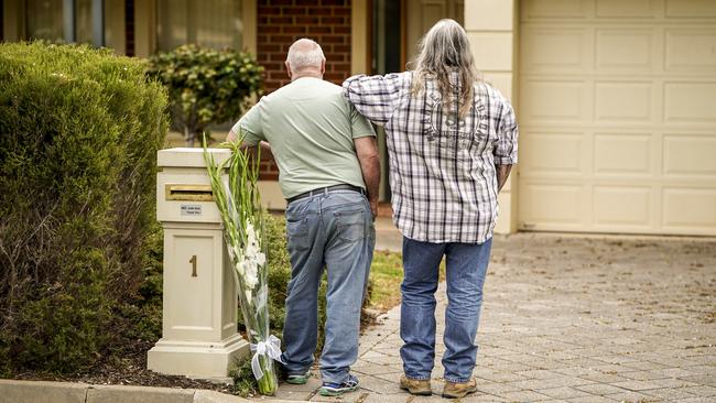
<instances>
[{"instance_id":1,"label":"person with long grey hair in plaid shirt and jeans","mask_svg":"<svg viewBox=\"0 0 716 403\"><path fill-rule=\"evenodd\" d=\"M387 132L393 220L403 235L400 385L432 393L435 291L445 255L443 396L462 397L477 390L475 337L497 195L517 163L514 111L480 80L467 34L453 20L425 34L414 70L354 76L343 86L356 109Z\"/></svg>"}]
</instances>

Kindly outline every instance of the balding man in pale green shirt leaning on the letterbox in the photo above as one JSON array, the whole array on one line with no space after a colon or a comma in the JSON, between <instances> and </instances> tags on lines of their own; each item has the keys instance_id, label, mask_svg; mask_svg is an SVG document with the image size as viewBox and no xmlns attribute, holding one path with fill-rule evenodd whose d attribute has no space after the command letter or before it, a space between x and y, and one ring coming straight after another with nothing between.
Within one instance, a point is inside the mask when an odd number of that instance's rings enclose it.
<instances>
[{"instance_id":1,"label":"balding man in pale green shirt leaning on the letterbox","mask_svg":"<svg viewBox=\"0 0 716 403\"><path fill-rule=\"evenodd\" d=\"M376 133L343 96L323 80L321 46L299 40L289 50L291 84L261 98L228 139L265 141L279 165L289 202L286 232L291 281L282 361L288 382L305 383L317 342L317 293L328 275L321 394L358 388L350 366L358 357L360 308L376 242L380 160Z\"/></svg>"}]
</instances>

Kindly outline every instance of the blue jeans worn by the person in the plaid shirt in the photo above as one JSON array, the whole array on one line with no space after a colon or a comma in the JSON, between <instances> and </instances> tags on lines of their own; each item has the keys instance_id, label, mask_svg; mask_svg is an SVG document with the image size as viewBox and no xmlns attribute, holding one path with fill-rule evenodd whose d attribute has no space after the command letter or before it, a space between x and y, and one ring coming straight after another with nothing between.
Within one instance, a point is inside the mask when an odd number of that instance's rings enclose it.
<instances>
[{"instance_id":1,"label":"blue jeans worn by the person in the plaid shirt","mask_svg":"<svg viewBox=\"0 0 716 403\"><path fill-rule=\"evenodd\" d=\"M491 247L491 238L485 243L431 243L403 237L400 337L404 345L400 356L408 378L427 380L433 371L435 291L443 255L447 263L444 378L462 383L473 375L477 355L475 336Z\"/></svg>"}]
</instances>

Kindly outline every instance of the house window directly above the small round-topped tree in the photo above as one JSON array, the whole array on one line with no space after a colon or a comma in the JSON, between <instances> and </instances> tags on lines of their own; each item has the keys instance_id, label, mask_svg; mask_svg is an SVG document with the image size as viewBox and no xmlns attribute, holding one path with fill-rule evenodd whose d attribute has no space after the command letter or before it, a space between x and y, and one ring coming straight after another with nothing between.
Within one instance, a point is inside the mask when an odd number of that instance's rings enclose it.
<instances>
[{"instance_id":1,"label":"house window directly above the small round-topped tree","mask_svg":"<svg viewBox=\"0 0 716 403\"><path fill-rule=\"evenodd\" d=\"M159 51L186 43L241 48L239 0L159 0L156 22Z\"/></svg>"}]
</instances>

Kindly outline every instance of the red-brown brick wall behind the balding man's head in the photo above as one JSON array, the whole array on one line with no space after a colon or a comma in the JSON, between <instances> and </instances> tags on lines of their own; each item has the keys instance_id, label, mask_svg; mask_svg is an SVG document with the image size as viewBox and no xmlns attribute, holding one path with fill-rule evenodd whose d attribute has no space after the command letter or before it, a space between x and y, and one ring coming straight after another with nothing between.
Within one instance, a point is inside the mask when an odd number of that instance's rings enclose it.
<instances>
[{"instance_id":1,"label":"red-brown brick wall behind the balding man's head","mask_svg":"<svg viewBox=\"0 0 716 403\"><path fill-rule=\"evenodd\" d=\"M259 0L257 59L265 68L265 92L288 84L283 62L301 39L316 41L326 55L324 78L340 85L350 76L350 0ZM261 179L275 181L270 153L261 157Z\"/></svg>"}]
</instances>

